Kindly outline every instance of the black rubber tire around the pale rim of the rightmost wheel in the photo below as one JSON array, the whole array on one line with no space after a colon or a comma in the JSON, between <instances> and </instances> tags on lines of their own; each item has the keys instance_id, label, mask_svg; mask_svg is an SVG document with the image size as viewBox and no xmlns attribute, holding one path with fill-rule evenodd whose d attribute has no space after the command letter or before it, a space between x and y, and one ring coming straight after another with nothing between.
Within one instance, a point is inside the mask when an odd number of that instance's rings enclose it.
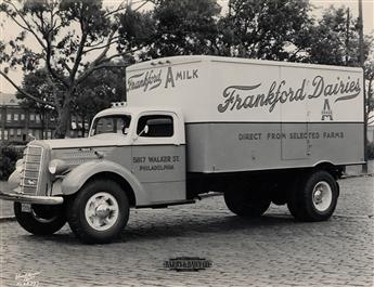
<instances>
[{"instance_id":1,"label":"black rubber tire around the pale rim of the rightmost wheel","mask_svg":"<svg viewBox=\"0 0 374 287\"><path fill-rule=\"evenodd\" d=\"M326 182L332 191L332 201L330 207L321 212L314 208L312 192L317 183ZM287 207L293 217L299 221L318 222L325 221L334 213L339 187L336 180L327 171L319 170L301 177L291 188Z\"/></svg>"}]
</instances>

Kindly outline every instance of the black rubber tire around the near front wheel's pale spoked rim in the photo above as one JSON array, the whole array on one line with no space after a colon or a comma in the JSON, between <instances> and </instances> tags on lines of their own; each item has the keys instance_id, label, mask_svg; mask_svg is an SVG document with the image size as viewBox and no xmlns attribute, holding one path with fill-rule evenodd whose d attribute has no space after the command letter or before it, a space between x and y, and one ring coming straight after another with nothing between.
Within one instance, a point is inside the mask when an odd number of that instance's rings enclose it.
<instances>
[{"instance_id":1,"label":"black rubber tire around the near front wheel's pale spoked rim","mask_svg":"<svg viewBox=\"0 0 374 287\"><path fill-rule=\"evenodd\" d=\"M107 231L96 231L89 225L85 216L87 201L95 193L106 192L114 196L118 203L119 214L117 222ZM119 236L129 219L129 201L125 191L113 181L93 180L82 186L78 194L68 200L67 222L78 237L85 244L106 244Z\"/></svg>"}]
</instances>

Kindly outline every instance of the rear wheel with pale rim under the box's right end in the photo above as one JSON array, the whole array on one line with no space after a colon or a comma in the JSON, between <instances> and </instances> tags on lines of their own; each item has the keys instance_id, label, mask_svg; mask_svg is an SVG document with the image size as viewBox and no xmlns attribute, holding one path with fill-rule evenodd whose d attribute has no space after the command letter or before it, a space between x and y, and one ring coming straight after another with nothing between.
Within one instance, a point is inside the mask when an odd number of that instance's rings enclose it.
<instances>
[{"instance_id":1,"label":"rear wheel with pale rim under the box's right end","mask_svg":"<svg viewBox=\"0 0 374 287\"><path fill-rule=\"evenodd\" d=\"M327 171L309 173L292 188L288 210L297 220L327 220L336 208L338 193L338 184Z\"/></svg>"}]
</instances>

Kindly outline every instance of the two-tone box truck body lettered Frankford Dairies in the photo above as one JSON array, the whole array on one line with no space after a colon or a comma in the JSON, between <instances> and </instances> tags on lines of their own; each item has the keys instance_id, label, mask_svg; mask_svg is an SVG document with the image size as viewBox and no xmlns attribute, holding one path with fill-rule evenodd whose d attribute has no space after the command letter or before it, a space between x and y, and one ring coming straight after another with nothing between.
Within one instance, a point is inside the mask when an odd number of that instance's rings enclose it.
<instances>
[{"instance_id":1,"label":"two-tone box truck body lettered Frankford Dairies","mask_svg":"<svg viewBox=\"0 0 374 287\"><path fill-rule=\"evenodd\" d=\"M188 171L362 164L362 69L212 56L127 69L129 106L183 112Z\"/></svg>"}]
</instances>

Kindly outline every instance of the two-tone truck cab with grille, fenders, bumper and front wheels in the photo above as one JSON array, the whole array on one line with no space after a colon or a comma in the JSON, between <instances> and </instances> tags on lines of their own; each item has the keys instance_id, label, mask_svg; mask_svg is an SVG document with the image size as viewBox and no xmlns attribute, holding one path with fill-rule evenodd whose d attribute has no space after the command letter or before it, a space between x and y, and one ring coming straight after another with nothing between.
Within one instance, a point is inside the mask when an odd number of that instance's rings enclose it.
<instances>
[{"instance_id":1,"label":"two-tone truck cab with grille, fenders, bumper and front wheels","mask_svg":"<svg viewBox=\"0 0 374 287\"><path fill-rule=\"evenodd\" d=\"M53 233L75 214L72 229L83 242L106 242L114 227L124 227L130 207L191 201L183 114L170 107L115 103L93 118L87 139L33 141L16 166L12 190L0 197L15 201L20 224L34 234ZM75 200L79 191L96 187Z\"/></svg>"}]
</instances>

